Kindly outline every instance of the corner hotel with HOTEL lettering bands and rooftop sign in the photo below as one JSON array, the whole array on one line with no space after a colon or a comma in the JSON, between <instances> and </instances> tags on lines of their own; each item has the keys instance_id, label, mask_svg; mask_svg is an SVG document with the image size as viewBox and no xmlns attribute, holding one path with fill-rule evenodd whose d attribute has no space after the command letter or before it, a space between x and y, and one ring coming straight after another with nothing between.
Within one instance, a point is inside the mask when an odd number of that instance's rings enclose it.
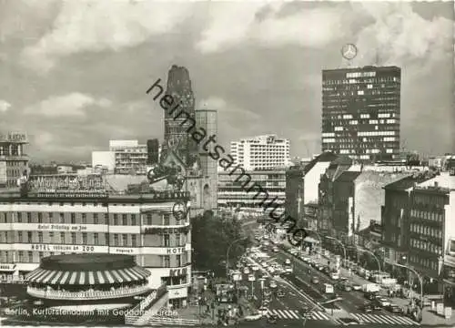
<instances>
[{"instance_id":1,"label":"corner hotel with HOTEL lettering bands and rooftop sign","mask_svg":"<svg viewBox=\"0 0 455 328\"><path fill-rule=\"evenodd\" d=\"M164 282L169 302L185 306L191 282L187 191L125 194L108 190L110 176L31 176L28 193L0 193L0 276L13 279L53 254L122 253ZM116 183L118 186L118 183ZM119 187L119 186L118 186Z\"/></svg>"}]
</instances>

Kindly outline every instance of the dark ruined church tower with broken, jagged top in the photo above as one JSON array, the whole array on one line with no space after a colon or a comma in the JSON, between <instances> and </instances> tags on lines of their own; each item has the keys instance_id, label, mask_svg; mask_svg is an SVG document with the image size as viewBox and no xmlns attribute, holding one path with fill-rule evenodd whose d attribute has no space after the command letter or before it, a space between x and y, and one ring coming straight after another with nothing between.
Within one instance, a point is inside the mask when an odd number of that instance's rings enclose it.
<instances>
[{"instance_id":1,"label":"dark ruined church tower with broken, jagged top","mask_svg":"<svg viewBox=\"0 0 455 328\"><path fill-rule=\"evenodd\" d=\"M178 110L172 114L165 111L165 143L163 151L172 148L187 166L197 158L197 143L187 133L191 126L188 117L195 118L195 97L191 89L191 80L186 67L173 65L167 75L166 94L173 97ZM178 115L178 113L182 113Z\"/></svg>"}]
</instances>

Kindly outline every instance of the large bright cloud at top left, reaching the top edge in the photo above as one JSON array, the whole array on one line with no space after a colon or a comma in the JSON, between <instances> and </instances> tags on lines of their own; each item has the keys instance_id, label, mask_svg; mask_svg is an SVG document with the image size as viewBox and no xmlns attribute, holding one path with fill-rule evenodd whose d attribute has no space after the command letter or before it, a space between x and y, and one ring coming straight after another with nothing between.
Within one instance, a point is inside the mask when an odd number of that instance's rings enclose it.
<instances>
[{"instance_id":1,"label":"large bright cloud at top left, reaching the top edge","mask_svg":"<svg viewBox=\"0 0 455 328\"><path fill-rule=\"evenodd\" d=\"M65 1L52 30L25 48L23 64L47 72L56 59L83 51L118 51L164 34L190 15L191 4L154 1Z\"/></svg>"}]
</instances>

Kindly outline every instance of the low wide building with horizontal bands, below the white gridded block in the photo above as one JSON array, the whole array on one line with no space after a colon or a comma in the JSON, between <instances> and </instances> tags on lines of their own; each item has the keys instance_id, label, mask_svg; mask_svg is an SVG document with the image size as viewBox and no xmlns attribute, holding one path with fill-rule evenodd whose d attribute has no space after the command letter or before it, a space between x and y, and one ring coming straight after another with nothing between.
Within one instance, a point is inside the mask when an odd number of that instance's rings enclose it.
<instances>
[{"instance_id":1,"label":"low wide building with horizontal bands, below the white gridded block","mask_svg":"<svg viewBox=\"0 0 455 328\"><path fill-rule=\"evenodd\" d=\"M284 211L285 193L286 193L286 171L283 170L264 170L264 171L247 171L251 177L250 185L257 183L268 192L268 201L273 200L278 204L276 214ZM260 195L254 198L257 191L248 192L248 187L244 188L245 179L238 179L237 174L229 175L229 172L218 172L218 190L217 203L218 209L238 209L246 212L257 211L264 212L264 196ZM270 209L273 210L273 209Z\"/></svg>"}]
</instances>

